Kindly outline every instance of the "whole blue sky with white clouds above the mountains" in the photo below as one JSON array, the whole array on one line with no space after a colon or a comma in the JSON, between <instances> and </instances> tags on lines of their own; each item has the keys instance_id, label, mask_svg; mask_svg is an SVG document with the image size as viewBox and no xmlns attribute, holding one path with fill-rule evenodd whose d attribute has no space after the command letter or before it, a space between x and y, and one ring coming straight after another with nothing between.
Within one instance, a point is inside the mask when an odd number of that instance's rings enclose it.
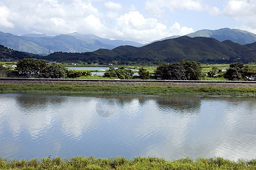
<instances>
[{"instance_id":1,"label":"whole blue sky with white clouds above the mountains","mask_svg":"<svg viewBox=\"0 0 256 170\"><path fill-rule=\"evenodd\" d=\"M0 31L147 43L201 29L256 34L256 0L0 0Z\"/></svg>"}]
</instances>

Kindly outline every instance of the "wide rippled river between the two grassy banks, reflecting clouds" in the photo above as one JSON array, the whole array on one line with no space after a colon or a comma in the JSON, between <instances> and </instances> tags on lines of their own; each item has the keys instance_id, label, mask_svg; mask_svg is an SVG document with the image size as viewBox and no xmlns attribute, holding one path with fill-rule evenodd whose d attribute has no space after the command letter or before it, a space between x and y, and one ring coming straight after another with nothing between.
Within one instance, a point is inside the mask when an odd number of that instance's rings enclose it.
<instances>
[{"instance_id":1,"label":"wide rippled river between the two grassy banks, reflecting clouds","mask_svg":"<svg viewBox=\"0 0 256 170\"><path fill-rule=\"evenodd\" d=\"M0 156L253 159L255 97L0 94Z\"/></svg>"}]
</instances>

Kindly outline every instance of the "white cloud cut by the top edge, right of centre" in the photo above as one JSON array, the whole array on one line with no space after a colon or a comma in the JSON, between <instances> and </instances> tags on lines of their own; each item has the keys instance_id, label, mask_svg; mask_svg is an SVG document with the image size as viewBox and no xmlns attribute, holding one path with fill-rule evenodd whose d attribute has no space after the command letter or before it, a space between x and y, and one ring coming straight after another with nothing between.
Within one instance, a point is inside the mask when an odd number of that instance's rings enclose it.
<instances>
[{"instance_id":1,"label":"white cloud cut by the top edge, right of centre","mask_svg":"<svg viewBox=\"0 0 256 170\"><path fill-rule=\"evenodd\" d=\"M149 0L145 3L145 10L156 17L163 16L165 8L168 8L170 11L184 8L196 11L204 10L203 4L194 0Z\"/></svg>"}]
</instances>

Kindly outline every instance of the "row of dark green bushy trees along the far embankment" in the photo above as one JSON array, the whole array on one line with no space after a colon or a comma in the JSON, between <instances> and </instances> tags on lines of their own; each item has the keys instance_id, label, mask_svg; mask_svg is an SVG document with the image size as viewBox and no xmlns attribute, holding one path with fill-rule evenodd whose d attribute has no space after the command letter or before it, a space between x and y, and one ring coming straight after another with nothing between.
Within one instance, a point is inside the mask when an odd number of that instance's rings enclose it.
<instances>
[{"instance_id":1,"label":"row of dark green bushy trees along the far embankment","mask_svg":"<svg viewBox=\"0 0 256 170\"><path fill-rule=\"evenodd\" d=\"M139 69L140 79L158 79L158 80L200 80L204 76L215 78L218 73L217 67L212 67L207 75L202 73L201 63L195 61L182 60L175 63L162 62L156 68L153 74L144 67ZM44 59L25 58L16 63L15 69L4 67L0 64L0 77L34 77L34 78L78 78L81 76L91 75L90 71L86 70L70 70L66 69L61 63L49 63ZM105 77L117 79L133 79L133 71L119 67L115 69L110 66L110 69L104 73ZM255 80L256 65L249 63L245 65L241 62L231 63L228 70L224 74L228 80Z\"/></svg>"}]
</instances>

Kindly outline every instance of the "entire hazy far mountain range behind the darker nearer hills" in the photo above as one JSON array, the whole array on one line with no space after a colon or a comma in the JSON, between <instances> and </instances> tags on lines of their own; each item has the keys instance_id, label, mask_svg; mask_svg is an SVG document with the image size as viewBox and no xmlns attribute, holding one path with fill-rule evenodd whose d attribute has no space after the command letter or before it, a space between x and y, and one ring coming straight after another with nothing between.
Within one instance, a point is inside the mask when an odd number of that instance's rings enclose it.
<instances>
[{"instance_id":1,"label":"entire hazy far mountain range behind the darker nearer hills","mask_svg":"<svg viewBox=\"0 0 256 170\"><path fill-rule=\"evenodd\" d=\"M222 28L217 30L203 29L190 33L189 37L212 37L219 41L231 40L245 45L256 42L256 35L240 29ZM175 39L181 36L166 37L162 40ZM158 40L158 41L162 41ZM156 42L156 41L153 41ZM152 44L151 42L150 44ZM53 52L83 53L98 49L114 49L121 45L142 46L139 42L110 40L96 35L70 33L68 35L48 36L44 34L27 34L15 36L0 32L0 45L14 50L47 56ZM146 44L148 45L148 44Z\"/></svg>"}]
</instances>

